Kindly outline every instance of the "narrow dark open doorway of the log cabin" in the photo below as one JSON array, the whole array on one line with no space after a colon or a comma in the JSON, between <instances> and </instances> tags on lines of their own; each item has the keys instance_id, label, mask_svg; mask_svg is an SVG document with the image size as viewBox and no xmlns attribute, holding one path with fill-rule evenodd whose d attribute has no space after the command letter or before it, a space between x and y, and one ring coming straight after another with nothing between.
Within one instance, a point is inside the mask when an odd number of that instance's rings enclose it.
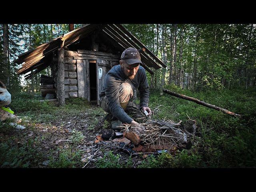
<instances>
[{"instance_id":1,"label":"narrow dark open doorway of the log cabin","mask_svg":"<svg viewBox=\"0 0 256 192\"><path fill-rule=\"evenodd\" d=\"M97 82L96 82L96 61L89 62L89 71L90 71L90 101L97 101Z\"/></svg>"}]
</instances>

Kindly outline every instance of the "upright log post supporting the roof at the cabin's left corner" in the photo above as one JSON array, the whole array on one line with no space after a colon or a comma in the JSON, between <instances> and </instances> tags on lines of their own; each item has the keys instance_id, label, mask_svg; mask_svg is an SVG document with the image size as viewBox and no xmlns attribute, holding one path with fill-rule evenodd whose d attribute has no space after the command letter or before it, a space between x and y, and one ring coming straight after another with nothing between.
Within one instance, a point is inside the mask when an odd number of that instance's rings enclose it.
<instances>
[{"instance_id":1,"label":"upright log post supporting the roof at the cabin's left corner","mask_svg":"<svg viewBox=\"0 0 256 192\"><path fill-rule=\"evenodd\" d=\"M57 98L59 106L65 104L64 89L64 49L58 50Z\"/></svg>"}]
</instances>

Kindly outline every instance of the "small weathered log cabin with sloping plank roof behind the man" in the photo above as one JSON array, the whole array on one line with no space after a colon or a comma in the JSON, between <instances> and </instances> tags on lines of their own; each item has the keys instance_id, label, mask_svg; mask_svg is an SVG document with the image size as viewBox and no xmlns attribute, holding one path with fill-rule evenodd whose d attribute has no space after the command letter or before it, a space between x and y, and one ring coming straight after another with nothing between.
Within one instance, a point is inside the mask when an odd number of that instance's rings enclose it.
<instances>
[{"instance_id":1,"label":"small weathered log cabin with sloping plank roof behind the man","mask_svg":"<svg viewBox=\"0 0 256 192\"><path fill-rule=\"evenodd\" d=\"M16 73L25 79L51 68L51 77L41 76L41 92L56 94L59 105L65 98L80 97L99 104L106 73L119 64L122 52L133 47L141 52L142 66L152 76L154 69L166 67L142 42L121 24L85 24L29 50L14 62L22 64ZM29 74L27 74L30 72Z\"/></svg>"}]
</instances>

